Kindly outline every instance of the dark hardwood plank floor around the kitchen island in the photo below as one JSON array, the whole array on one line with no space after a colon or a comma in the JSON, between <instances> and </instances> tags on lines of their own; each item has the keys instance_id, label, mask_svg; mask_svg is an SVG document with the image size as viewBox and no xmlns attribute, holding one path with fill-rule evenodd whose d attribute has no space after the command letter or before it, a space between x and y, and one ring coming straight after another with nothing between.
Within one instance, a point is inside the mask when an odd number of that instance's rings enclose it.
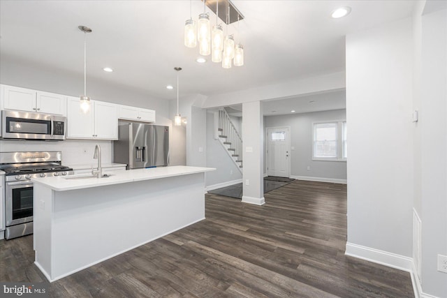
<instances>
[{"instance_id":1,"label":"dark hardwood plank floor around the kitchen island","mask_svg":"<svg viewBox=\"0 0 447 298\"><path fill-rule=\"evenodd\" d=\"M344 255L345 185L297 180L265 202L208 194L205 221L55 281L50 296L414 297L409 273ZM32 237L0 241L0 281L45 281L33 261Z\"/></svg>"}]
</instances>

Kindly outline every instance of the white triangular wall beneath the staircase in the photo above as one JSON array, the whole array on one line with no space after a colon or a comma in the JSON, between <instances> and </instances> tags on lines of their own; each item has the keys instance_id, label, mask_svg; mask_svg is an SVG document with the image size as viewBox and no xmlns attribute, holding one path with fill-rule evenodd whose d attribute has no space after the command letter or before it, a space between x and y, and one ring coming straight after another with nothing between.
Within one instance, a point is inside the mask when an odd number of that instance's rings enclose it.
<instances>
[{"instance_id":1,"label":"white triangular wall beneath the staircase","mask_svg":"<svg viewBox=\"0 0 447 298\"><path fill-rule=\"evenodd\" d=\"M206 173L206 186L224 184L242 179L242 174L219 140L214 140L214 113L207 112L206 121L206 166L217 170Z\"/></svg>"}]
</instances>

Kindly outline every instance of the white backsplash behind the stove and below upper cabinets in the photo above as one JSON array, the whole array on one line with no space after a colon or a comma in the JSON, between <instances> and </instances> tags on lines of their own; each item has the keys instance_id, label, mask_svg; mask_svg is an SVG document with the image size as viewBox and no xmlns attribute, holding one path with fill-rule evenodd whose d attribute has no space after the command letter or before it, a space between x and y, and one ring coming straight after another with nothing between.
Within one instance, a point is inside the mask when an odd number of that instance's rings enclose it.
<instances>
[{"instance_id":1,"label":"white backsplash behind the stove and below upper cabinets","mask_svg":"<svg viewBox=\"0 0 447 298\"><path fill-rule=\"evenodd\" d=\"M111 163L112 141L104 140L64 140L57 142L0 140L0 152L62 151L63 165L78 165L97 162L93 159L96 144L101 146L102 163Z\"/></svg>"}]
</instances>

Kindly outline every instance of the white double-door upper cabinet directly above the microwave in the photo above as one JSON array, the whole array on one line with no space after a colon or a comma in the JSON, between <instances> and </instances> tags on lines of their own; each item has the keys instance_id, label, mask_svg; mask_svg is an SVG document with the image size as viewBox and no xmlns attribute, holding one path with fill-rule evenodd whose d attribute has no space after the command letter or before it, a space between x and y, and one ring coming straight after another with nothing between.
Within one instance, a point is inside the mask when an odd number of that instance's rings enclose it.
<instances>
[{"instance_id":1,"label":"white double-door upper cabinet directly above the microwave","mask_svg":"<svg viewBox=\"0 0 447 298\"><path fill-rule=\"evenodd\" d=\"M7 85L2 89L5 110L66 115L66 96Z\"/></svg>"}]
</instances>

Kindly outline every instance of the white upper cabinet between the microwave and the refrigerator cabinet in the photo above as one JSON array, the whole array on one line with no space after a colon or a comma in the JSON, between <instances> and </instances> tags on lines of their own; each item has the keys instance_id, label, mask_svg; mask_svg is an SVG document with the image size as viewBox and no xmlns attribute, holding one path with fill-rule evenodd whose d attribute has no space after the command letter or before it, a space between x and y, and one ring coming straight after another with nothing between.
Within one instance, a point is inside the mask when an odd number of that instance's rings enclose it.
<instances>
[{"instance_id":1,"label":"white upper cabinet between the microwave and the refrigerator cabinet","mask_svg":"<svg viewBox=\"0 0 447 298\"><path fill-rule=\"evenodd\" d=\"M80 99L67 100L67 139L118 140L117 105L91 100L90 112L80 109Z\"/></svg>"}]
</instances>

